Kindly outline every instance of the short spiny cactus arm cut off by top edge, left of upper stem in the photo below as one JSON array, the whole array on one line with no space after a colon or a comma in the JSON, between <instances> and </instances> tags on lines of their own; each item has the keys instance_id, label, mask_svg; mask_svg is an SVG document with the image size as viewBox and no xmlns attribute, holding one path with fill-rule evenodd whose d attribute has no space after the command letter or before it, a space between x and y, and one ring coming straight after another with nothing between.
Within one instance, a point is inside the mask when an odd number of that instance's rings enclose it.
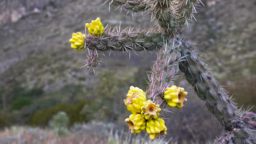
<instances>
[{"instance_id":1,"label":"short spiny cactus arm cut off by top edge, left of upper stem","mask_svg":"<svg viewBox=\"0 0 256 144\"><path fill-rule=\"evenodd\" d=\"M125 9L132 12L146 11L147 4L144 0L104 0L105 3L115 5L115 7L120 8L120 10Z\"/></svg>"}]
</instances>

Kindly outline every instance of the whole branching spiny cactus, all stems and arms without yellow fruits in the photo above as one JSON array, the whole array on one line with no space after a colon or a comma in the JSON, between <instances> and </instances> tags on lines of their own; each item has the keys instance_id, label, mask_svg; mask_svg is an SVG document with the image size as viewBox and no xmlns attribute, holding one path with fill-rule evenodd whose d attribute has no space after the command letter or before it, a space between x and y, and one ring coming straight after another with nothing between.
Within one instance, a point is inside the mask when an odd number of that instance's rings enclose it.
<instances>
[{"instance_id":1,"label":"whole branching spiny cactus, all stems and arms without yellow fruits","mask_svg":"<svg viewBox=\"0 0 256 144\"><path fill-rule=\"evenodd\" d=\"M149 75L147 95L162 107L165 89L183 72L197 96L221 122L224 132L216 139L221 144L256 144L256 114L238 109L201 59L193 44L181 32L195 19L200 0L104 0L120 11L144 12L155 21L153 29L142 31L128 27L105 29L102 35L86 35L88 68L96 67L104 51L157 51L157 59Z\"/></svg>"}]
</instances>

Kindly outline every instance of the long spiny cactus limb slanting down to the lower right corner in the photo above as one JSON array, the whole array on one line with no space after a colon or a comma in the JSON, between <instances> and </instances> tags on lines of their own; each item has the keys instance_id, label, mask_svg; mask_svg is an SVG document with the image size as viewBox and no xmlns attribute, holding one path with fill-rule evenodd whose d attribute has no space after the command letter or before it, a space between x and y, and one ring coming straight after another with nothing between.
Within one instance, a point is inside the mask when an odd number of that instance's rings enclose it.
<instances>
[{"instance_id":1,"label":"long spiny cactus limb slanting down to the lower right corner","mask_svg":"<svg viewBox=\"0 0 256 144\"><path fill-rule=\"evenodd\" d=\"M224 88L221 88L213 77L208 66L201 60L199 53L193 50L189 43L184 42L181 55L184 61L179 64L180 70L194 87L197 96L205 101L209 111L224 125L225 134L220 140L231 139L235 144L256 143L255 128L244 121L253 113L244 116L241 114Z\"/></svg>"}]
</instances>

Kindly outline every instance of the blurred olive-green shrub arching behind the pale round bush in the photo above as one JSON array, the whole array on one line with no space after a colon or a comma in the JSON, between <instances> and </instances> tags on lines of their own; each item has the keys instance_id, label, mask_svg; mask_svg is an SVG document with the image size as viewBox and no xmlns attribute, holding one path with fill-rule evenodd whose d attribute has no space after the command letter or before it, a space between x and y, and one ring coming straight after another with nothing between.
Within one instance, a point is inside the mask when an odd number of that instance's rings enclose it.
<instances>
[{"instance_id":1,"label":"blurred olive-green shrub arching behind the pale round bush","mask_svg":"<svg viewBox=\"0 0 256 144\"><path fill-rule=\"evenodd\" d=\"M69 126L73 125L74 123L87 122L89 117L80 113L85 104L85 101L81 101L78 104L58 104L54 107L42 109L30 117L29 124L34 126L48 125L49 120L51 120L53 115L59 111L67 113L69 117Z\"/></svg>"}]
</instances>

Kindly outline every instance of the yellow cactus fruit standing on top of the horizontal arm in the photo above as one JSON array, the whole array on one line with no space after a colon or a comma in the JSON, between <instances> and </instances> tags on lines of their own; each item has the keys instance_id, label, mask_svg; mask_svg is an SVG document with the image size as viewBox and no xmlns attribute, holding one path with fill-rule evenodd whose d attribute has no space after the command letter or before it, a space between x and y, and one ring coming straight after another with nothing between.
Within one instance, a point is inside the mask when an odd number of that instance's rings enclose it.
<instances>
[{"instance_id":1,"label":"yellow cactus fruit standing on top of the horizontal arm","mask_svg":"<svg viewBox=\"0 0 256 144\"><path fill-rule=\"evenodd\" d=\"M97 18L96 20L91 21L91 23L86 23L85 27L87 27L89 33L94 36L100 36L104 31L104 27L101 23L101 19Z\"/></svg>"}]
</instances>

